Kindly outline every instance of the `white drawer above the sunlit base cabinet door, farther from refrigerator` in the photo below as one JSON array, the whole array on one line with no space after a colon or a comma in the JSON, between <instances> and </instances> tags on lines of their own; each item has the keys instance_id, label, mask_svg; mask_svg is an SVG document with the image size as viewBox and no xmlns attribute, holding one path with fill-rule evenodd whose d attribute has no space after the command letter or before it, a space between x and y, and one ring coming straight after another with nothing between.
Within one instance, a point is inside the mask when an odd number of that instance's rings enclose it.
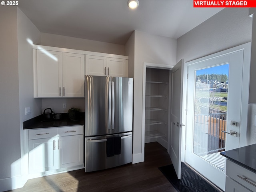
<instances>
[{"instance_id":1,"label":"white drawer above the sunlit base cabinet door, farther from refrigerator","mask_svg":"<svg viewBox=\"0 0 256 192\"><path fill-rule=\"evenodd\" d=\"M28 139L42 139L55 137L58 134L57 128L28 130Z\"/></svg>"}]
</instances>

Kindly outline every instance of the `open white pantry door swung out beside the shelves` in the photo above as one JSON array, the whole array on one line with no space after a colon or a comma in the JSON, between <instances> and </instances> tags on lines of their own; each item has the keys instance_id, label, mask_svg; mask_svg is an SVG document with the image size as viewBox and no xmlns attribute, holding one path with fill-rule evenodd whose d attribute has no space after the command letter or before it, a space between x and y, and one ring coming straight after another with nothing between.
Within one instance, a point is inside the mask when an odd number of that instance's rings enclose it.
<instances>
[{"instance_id":1,"label":"open white pantry door swung out beside the shelves","mask_svg":"<svg viewBox=\"0 0 256 192\"><path fill-rule=\"evenodd\" d=\"M182 94L183 94L183 68L184 60L180 60L172 68L172 104L170 124L169 153L175 172L180 179L181 175L181 132L182 132Z\"/></svg>"}]
</instances>

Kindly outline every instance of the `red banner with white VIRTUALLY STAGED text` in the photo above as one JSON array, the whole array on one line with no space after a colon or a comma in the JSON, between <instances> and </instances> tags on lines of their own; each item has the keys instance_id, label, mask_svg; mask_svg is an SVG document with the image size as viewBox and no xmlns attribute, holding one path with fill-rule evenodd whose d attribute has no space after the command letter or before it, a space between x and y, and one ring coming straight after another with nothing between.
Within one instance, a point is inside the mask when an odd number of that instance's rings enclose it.
<instances>
[{"instance_id":1,"label":"red banner with white VIRTUALLY STAGED text","mask_svg":"<svg viewBox=\"0 0 256 192\"><path fill-rule=\"evenodd\" d=\"M194 0L194 7L256 7L256 0L247 0L247 1L209 1L209 0Z\"/></svg>"}]
</instances>

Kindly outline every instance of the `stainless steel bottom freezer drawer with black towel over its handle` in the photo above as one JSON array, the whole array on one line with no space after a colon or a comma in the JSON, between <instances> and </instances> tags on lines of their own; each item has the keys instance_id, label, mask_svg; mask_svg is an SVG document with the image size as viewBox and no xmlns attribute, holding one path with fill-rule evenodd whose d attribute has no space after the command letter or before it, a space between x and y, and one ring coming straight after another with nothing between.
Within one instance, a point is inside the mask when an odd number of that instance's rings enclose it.
<instances>
[{"instance_id":1,"label":"stainless steel bottom freezer drawer with black towel over its handle","mask_svg":"<svg viewBox=\"0 0 256 192\"><path fill-rule=\"evenodd\" d=\"M107 156L107 139L121 137L120 154ZM85 172L103 170L132 162L132 132L85 138Z\"/></svg>"}]
</instances>

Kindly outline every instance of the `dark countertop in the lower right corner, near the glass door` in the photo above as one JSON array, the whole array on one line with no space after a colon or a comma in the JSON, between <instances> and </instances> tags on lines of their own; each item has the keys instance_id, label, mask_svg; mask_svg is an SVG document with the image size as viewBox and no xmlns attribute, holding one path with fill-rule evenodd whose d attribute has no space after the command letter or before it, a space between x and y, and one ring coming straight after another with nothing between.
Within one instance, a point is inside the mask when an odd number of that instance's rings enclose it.
<instances>
[{"instance_id":1,"label":"dark countertop in the lower right corner, near the glass door","mask_svg":"<svg viewBox=\"0 0 256 192\"><path fill-rule=\"evenodd\" d=\"M256 144L224 151L220 154L256 173Z\"/></svg>"}]
</instances>

